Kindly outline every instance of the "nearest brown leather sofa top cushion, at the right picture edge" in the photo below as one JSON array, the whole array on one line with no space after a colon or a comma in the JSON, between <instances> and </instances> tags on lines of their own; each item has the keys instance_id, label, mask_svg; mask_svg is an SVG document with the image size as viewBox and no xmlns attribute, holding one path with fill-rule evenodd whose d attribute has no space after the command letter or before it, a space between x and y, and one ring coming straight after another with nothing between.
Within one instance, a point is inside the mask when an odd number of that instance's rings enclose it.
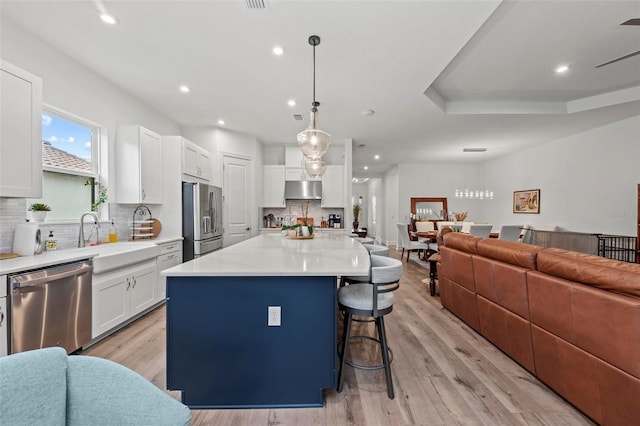
<instances>
[{"instance_id":1,"label":"nearest brown leather sofa top cushion, at the right picture edge","mask_svg":"<svg viewBox=\"0 0 640 426\"><path fill-rule=\"evenodd\" d=\"M640 297L640 265L574 251L547 248L538 253L538 271L603 290Z\"/></svg>"}]
</instances>

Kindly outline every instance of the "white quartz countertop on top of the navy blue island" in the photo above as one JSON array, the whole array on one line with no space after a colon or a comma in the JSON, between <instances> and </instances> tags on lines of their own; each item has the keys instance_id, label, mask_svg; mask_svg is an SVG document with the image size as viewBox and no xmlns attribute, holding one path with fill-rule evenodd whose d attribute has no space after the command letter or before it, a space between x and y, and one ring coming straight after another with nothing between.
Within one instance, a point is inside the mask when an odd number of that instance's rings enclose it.
<instances>
[{"instance_id":1,"label":"white quartz countertop on top of the navy blue island","mask_svg":"<svg viewBox=\"0 0 640 426\"><path fill-rule=\"evenodd\" d=\"M345 235L291 240L267 233L163 271L175 276L366 276L367 249Z\"/></svg>"}]
</instances>

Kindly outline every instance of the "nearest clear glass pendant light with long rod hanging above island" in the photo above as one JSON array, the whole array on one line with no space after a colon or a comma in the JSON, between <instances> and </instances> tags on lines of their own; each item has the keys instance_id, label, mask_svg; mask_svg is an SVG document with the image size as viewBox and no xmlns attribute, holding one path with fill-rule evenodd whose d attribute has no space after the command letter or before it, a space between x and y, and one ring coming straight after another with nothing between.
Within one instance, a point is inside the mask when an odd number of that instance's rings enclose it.
<instances>
[{"instance_id":1,"label":"nearest clear glass pendant light with long rod hanging above island","mask_svg":"<svg viewBox=\"0 0 640 426\"><path fill-rule=\"evenodd\" d=\"M324 173L326 168L322 161L322 156L329 149L331 144L331 136L320 129L318 129L318 107L320 102L316 101L316 46L320 44L320 37L317 35L309 36L309 44L313 46L313 103L311 104L311 114L309 117L309 127L306 130L298 133L298 147L300 151L307 157L306 163L310 163L309 167L306 167L307 173L309 168L312 170L322 170L320 175ZM322 164L320 164L322 163Z\"/></svg>"}]
</instances>

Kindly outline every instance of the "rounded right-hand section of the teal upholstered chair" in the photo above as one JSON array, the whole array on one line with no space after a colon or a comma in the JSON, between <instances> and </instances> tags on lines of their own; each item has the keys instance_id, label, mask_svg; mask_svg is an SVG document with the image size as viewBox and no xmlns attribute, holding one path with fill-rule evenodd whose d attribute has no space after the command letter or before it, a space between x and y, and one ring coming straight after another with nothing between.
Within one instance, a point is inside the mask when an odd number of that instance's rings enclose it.
<instances>
[{"instance_id":1,"label":"rounded right-hand section of the teal upholstered chair","mask_svg":"<svg viewBox=\"0 0 640 426\"><path fill-rule=\"evenodd\" d=\"M69 356L67 425L187 425L189 408L112 361Z\"/></svg>"}]
</instances>

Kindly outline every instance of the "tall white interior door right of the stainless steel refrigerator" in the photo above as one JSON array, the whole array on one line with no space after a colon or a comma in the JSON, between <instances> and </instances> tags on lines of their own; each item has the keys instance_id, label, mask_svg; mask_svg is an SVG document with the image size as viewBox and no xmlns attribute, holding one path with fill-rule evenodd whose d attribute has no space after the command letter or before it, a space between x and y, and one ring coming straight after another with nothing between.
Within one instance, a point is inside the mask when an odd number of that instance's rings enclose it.
<instances>
[{"instance_id":1,"label":"tall white interior door right of the stainless steel refrigerator","mask_svg":"<svg viewBox=\"0 0 640 426\"><path fill-rule=\"evenodd\" d=\"M249 217L251 188L249 185L250 161L242 158L224 156L222 215L224 221L224 245L244 241L251 236Z\"/></svg>"}]
</instances>

